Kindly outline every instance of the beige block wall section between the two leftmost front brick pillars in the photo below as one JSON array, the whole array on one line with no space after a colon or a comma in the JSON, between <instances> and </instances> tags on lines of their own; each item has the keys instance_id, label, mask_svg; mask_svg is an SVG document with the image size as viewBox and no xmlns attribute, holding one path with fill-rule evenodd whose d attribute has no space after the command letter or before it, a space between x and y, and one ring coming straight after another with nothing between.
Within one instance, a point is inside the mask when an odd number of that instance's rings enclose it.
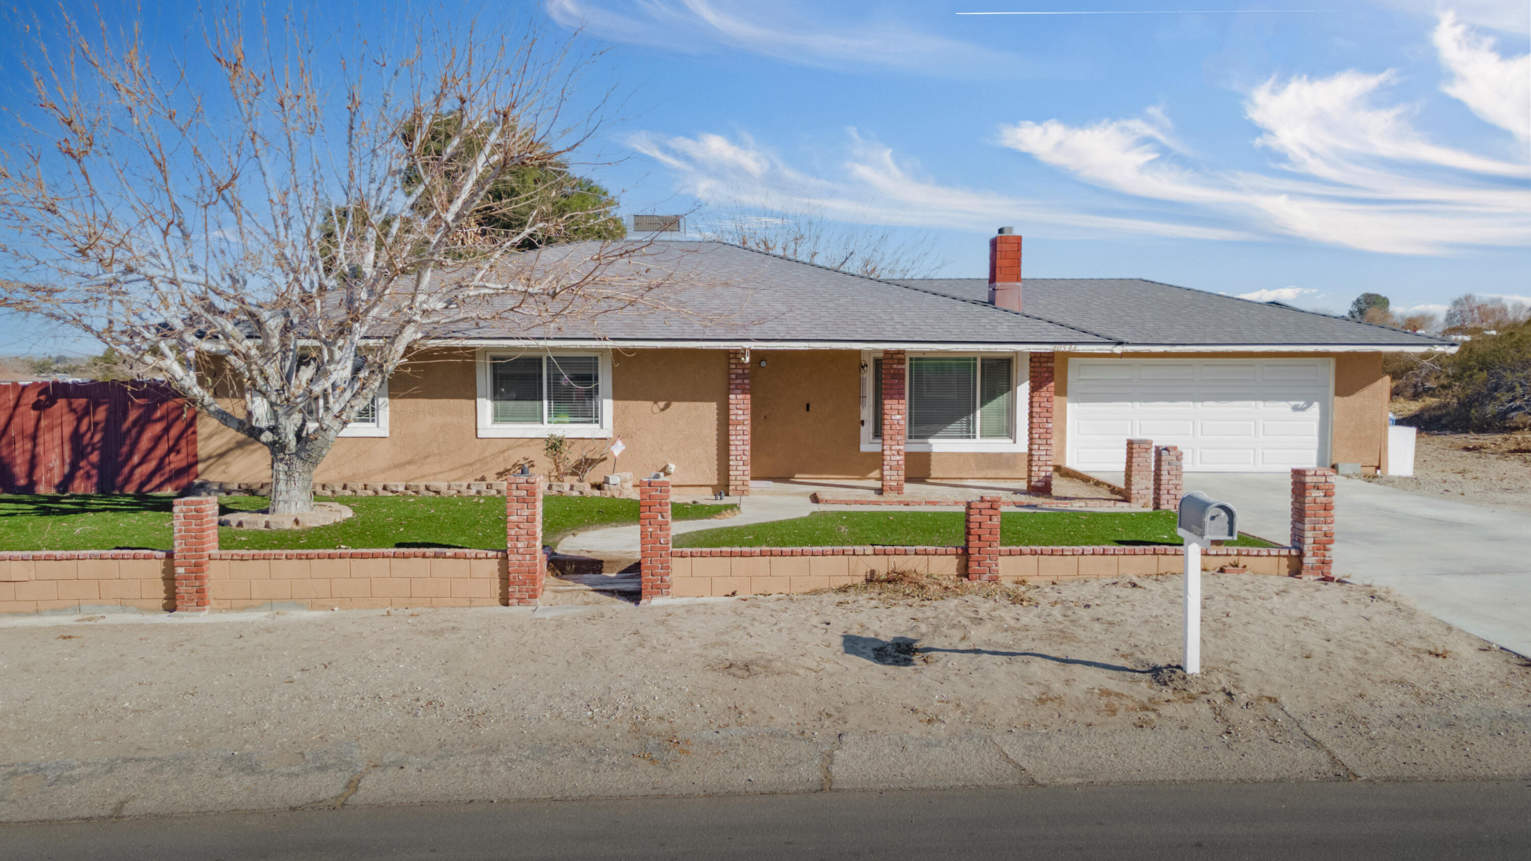
<instances>
[{"instance_id":1,"label":"beige block wall section between the two leftmost front brick pillars","mask_svg":"<svg viewBox=\"0 0 1531 861\"><path fill-rule=\"evenodd\" d=\"M505 559L214 559L213 610L499 607Z\"/></svg>"}]
</instances>

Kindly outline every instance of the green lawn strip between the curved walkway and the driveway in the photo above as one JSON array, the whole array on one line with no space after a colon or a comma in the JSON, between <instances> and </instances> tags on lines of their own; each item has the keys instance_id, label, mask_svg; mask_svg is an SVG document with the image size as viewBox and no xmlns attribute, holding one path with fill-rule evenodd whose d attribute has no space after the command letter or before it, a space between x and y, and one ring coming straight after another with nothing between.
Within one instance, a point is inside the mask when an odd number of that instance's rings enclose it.
<instances>
[{"instance_id":1,"label":"green lawn strip between the curved walkway and the driveway","mask_svg":"<svg viewBox=\"0 0 1531 861\"><path fill-rule=\"evenodd\" d=\"M961 512L819 512L790 521L689 532L675 547L845 547L865 544L963 544ZM1000 516L1006 545L1180 544L1174 512L1007 512ZM1229 547L1274 547L1240 536Z\"/></svg>"}]
</instances>

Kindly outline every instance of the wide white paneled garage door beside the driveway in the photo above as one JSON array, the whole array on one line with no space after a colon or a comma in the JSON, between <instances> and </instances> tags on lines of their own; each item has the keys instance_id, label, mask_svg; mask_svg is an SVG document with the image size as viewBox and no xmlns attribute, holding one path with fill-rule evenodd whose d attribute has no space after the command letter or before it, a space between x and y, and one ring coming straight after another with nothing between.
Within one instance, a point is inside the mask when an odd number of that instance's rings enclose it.
<instances>
[{"instance_id":1,"label":"wide white paneled garage door beside the driveway","mask_svg":"<svg viewBox=\"0 0 1531 861\"><path fill-rule=\"evenodd\" d=\"M1121 470L1128 438L1188 472L1283 472L1329 458L1329 358L1075 358L1069 466Z\"/></svg>"}]
</instances>

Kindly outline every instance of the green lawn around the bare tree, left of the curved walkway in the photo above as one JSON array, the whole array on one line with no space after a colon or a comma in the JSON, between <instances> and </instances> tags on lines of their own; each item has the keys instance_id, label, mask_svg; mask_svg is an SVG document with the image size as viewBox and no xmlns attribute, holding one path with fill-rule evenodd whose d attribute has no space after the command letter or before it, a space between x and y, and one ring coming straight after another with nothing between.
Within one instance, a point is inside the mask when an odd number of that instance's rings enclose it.
<instances>
[{"instance_id":1,"label":"green lawn around the bare tree, left of the curved walkway","mask_svg":"<svg viewBox=\"0 0 1531 861\"><path fill-rule=\"evenodd\" d=\"M306 530L220 529L224 550L332 550L337 547L505 547L505 501L499 496L346 496L355 516ZM170 496L0 496L0 550L170 548ZM225 496L224 510L266 507L265 496ZM735 506L677 503L675 519L717 516ZM638 521L637 499L547 496L542 541L571 532Z\"/></svg>"}]
</instances>

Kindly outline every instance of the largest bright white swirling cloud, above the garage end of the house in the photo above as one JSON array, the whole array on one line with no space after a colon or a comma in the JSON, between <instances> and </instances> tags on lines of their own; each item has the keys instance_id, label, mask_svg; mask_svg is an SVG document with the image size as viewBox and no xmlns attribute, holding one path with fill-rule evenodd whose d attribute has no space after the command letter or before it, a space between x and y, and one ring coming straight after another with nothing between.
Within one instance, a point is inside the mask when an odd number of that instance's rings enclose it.
<instances>
[{"instance_id":1,"label":"largest bright white swirling cloud, above the garage end of the house","mask_svg":"<svg viewBox=\"0 0 1531 861\"><path fill-rule=\"evenodd\" d=\"M1000 142L1102 188L1216 211L1265 234L1395 254L1531 242L1531 165L1431 142L1409 106L1378 104L1393 80L1346 70L1249 92L1245 113L1263 130L1255 142L1281 159L1269 173L1190 164L1162 113L1021 121L1001 127Z\"/></svg>"}]
</instances>

